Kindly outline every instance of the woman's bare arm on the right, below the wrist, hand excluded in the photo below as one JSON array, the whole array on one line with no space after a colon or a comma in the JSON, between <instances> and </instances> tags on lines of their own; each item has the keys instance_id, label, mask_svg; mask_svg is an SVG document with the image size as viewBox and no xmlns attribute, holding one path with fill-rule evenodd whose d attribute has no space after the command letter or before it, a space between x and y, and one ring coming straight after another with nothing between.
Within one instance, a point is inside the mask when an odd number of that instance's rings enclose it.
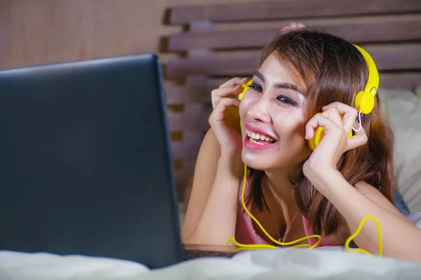
<instances>
[{"instance_id":1,"label":"woman's bare arm on the right, below the wrist, hand excluded","mask_svg":"<svg viewBox=\"0 0 421 280\"><path fill-rule=\"evenodd\" d=\"M373 215L380 223L383 255L421 262L421 229L406 220L377 189L364 182L354 188L339 171L330 169L311 178L314 187L345 218L351 234L363 218ZM354 241L359 248L377 255L379 247L375 222L367 220Z\"/></svg>"}]
</instances>

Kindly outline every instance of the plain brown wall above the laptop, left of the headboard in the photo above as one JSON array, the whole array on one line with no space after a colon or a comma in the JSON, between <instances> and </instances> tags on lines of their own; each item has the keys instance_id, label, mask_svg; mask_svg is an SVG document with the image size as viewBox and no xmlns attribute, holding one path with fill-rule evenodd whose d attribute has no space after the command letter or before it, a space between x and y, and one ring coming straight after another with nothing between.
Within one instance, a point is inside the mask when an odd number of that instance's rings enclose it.
<instances>
[{"instance_id":1,"label":"plain brown wall above the laptop, left of the headboard","mask_svg":"<svg viewBox=\"0 0 421 280\"><path fill-rule=\"evenodd\" d=\"M0 0L0 69L159 53L165 8L245 0ZM251 0L246 0L251 1Z\"/></svg>"}]
</instances>

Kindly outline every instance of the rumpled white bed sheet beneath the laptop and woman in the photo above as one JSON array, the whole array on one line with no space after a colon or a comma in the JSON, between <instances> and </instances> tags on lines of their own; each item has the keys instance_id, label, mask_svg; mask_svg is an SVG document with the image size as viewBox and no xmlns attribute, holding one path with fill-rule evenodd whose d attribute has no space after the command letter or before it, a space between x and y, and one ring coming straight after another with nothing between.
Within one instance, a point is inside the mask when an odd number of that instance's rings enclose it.
<instances>
[{"instance_id":1,"label":"rumpled white bed sheet beneath the laptop and woman","mask_svg":"<svg viewBox=\"0 0 421 280\"><path fill-rule=\"evenodd\" d=\"M421 212L408 219L421 228ZM421 263L347 253L342 247L280 248L200 258L149 270L126 260L0 251L1 280L420 279Z\"/></svg>"}]
</instances>

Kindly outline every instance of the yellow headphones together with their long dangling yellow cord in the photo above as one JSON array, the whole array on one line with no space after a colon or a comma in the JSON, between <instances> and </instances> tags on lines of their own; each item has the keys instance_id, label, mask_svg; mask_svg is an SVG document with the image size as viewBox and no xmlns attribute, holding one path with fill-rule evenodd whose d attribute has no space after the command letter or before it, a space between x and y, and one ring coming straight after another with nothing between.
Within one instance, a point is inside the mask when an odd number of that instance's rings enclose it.
<instances>
[{"instance_id":1,"label":"yellow headphones together with their long dangling yellow cord","mask_svg":"<svg viewBox=\"0 0 421 280\"><path fill-rule=\"evenodd\" d=\"M368 78L367 78L367 82L366 82L366 86L364 88L363 91L360 91L355 98L355 104L354 107L359 110L359 114L369 114L374 107L374 101L375 101L375 95L377 94L377 88L379 86L379 73L377 72L377 67L375 66L374 60L373 58L371 58L371 56L361 47L354 45L363 55L364 59L366 60L366 64L367 64L367 69L368 69ZM249 80L247 81L245 84L243 84L243 86L241 86L240 91L239 91L239 95L238 95L238 99L242 100L244 93L246 93L246 91L248 90L248 88L251 86L251 84L253 84L253 80ZM361 120L360 120L361 121ZM241 121L240 121L241 124ZM361 123L360 123L361 126ZM316 146L319 144L319 142L321 141L321 139L323 138L324 135L324 129L323 128L318 128L317 131L314 133L314 136L311 140L308 141L309 143L309 147L311 149L315 149ZM352 131L349 133L349 138L352 137ZM265 233L265 235L271 239L275 244L280 245L280 246L290 246L293 244L296 244L300 241L304 241L306 239L311 239L311 238L316 238L319 239L318 241L316 241L315 244L313 244L312 246L310 246L309 244L299 244L299 245L295 245L293 247L309 247L310 249L315 248L316 246L319 246L319 244L321 243L321 236L319 234L313 234L310 236L305 236L302 237L298 240L295 241L290 241L290 242L280 242L276 239L274 239L272 236L270 236L270 234L265 230L265 228L260 224L260 222L250 213L250 211L248 211L247 207L246 207L246 203L245 203L245 190L246 190L246 182L247 182L247 166L246 164L244 164L244 174L243 174L243 186L241 189L241 204L243 205L243 209L244 211L246 211L246 213L250 216L250 218L252 218L256 224L260 227L260 229L262 229L262 232ZM375 221L375 223L377 224L377 234L378 234L378 242L379 242L379 255L382 255L382 234L381 234L381 229L380 229L380 223L377 220L377 218L375 218L373 215L368 215L365 218L363 218L363 220L361 220L360 225L358 227L358 229L356 229L356 232L354 232L354 234L352 234L351 236L349 236L349 238L347 239L347 241L345 241L345 249L347 251L349 251L349 243L359 234L359 232L361 231L364 222L366 222L366 220L368 219L373 219ZM272 246L269 244L239 244L236 240L235 240L235 236L232 236L230 239L228 239L227 241L227 246L229 246L230 242L233 242L236 246L239 247L239 249L236 249L236 251L241 251L244 249L264 249L264 248L276 248L276 246ZM368 251L362 249L362 248L358 248L354 251L354 253L365 253L367 255L370 255L370 253L368 253Z\"/></svg>"}]
</instances>

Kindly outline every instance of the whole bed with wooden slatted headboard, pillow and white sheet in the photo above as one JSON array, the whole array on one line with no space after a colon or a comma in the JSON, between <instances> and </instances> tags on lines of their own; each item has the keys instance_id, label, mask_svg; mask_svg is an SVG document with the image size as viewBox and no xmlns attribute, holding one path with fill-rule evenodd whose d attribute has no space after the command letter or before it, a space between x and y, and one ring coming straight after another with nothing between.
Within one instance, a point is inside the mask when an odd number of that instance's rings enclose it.
<instances>
[{"instance_id":1,"label":"whole bed with wooden slatted headboard, pillow and white sheet","mask_svg":"<svg viewBox=\"0 0 421 280\"><path fill-rule=\"evenodd\" d=\"M396 134L396 178L421 228L421 1L282 0L177 6L167 38L179 57L164 65L168 123L184 215L185 187L208 129L210 91L258 65L259 48L281 27L304 22L365 47L380 70L385 119ZM253 34L253 36L250 36ZM251 39L250 39L251 38ZM342 247L248 251L233 258L200 258L149 270L127 260L84 255L0 251L0 279L420 279L421 264L352 254Z\"/></svg>"}]
</instances>

